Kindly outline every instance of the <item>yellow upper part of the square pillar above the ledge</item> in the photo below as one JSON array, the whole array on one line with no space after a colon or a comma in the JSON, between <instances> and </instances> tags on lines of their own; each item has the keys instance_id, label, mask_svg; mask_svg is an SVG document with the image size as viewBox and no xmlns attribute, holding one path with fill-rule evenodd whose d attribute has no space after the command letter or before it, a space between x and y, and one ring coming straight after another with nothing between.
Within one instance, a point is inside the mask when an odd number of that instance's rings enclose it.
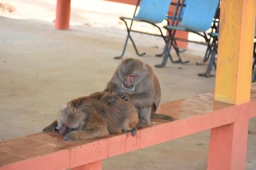
<instances>
[{"instance_id":1,"label":"yellow upper part of the square pillar above the ledge","mask_svg":"<svg viewBox=\"0 0 256 170\"><path fill-rule=\"evenodd\" d=\"M223 0L216 71L216 101L250 101L256 0Z\"/></svg>"}]
</instances>

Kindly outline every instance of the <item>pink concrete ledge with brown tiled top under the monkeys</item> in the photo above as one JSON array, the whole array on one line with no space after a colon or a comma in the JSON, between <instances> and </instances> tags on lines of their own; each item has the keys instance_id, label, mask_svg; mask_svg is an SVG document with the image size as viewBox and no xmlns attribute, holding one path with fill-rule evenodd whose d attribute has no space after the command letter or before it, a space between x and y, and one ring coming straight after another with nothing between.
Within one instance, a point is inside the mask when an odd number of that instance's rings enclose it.
<instances>
[{"instance_id":1,"label":"pink concrete ledge with brown tiled top under the monkeys","mask_svg":"<svg viewBox=\"0 0 256 170\"><path fill-rule=\"evenodd\" d=\"M249 103L235 106L216 102L209 93L162 104L158 113L177 120L153 120L154 126L140 129L135 137L111 134L108 138L64 141L58 133L39 132L2 141L0 169L101 169L102 159L232 124L241 115L256 117L256 84Z\"/></svg>"}]
</instances>

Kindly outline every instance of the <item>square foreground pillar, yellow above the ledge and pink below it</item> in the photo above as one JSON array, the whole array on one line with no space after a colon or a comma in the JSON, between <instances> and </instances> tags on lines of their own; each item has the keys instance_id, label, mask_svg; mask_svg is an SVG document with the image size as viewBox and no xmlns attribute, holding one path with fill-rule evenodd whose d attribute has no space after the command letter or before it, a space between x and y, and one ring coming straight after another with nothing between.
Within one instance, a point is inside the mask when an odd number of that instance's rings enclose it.
<instances>
[{"instance_id":1,"label":"square foreground pillar, yellow above the ledge and pink below it","mask_svg":"<svg viewBox=\"0 0 256 170\"><path fill-rule=\"evenodd\" d=\"M215 83L216 101L250 101L256 0L222 0ZM208 170L245 169L248 117L237 111L234 122L211 129Z\"/></svg>"}]
</instances>

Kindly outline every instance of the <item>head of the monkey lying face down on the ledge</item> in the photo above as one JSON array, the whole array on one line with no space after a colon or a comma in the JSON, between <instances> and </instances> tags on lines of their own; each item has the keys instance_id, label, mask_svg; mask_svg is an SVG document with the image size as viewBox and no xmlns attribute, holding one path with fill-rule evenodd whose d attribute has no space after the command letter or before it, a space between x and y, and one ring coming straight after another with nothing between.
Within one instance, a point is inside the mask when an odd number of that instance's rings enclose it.
<instances>
[{"instance_id":1,"label":"head of the monkey lying face down on the ledge","mask_svg":"<svg viewBox=\"0 0 256 170\"><path fill-rule=\"evenodd\" d=\"M79 131L84 125L85 114L73 106L67 105L61 110L58 117L58 131L60 134L67 134L70 131Z\"/></svg>"}]
</instances>

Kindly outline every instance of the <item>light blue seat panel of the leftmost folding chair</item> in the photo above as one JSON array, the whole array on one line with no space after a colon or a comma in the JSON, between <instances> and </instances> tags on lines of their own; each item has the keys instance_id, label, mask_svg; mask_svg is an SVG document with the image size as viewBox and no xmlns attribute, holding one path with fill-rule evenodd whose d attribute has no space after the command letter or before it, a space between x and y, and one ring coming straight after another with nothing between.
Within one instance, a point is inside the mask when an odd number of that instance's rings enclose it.
<instances>
[{"instance_id":1,"label":"light blue seat panel of the leftmost folding chair","mask_svg":"<svg viewBox=\"0 0 256 170\"><path fill-rule=\"evenodd\" d=\"M166 18L170 3L171 0L142 0L140 11L134 18L154 24L160 23Z\"/></svg>"}]
</instances>

